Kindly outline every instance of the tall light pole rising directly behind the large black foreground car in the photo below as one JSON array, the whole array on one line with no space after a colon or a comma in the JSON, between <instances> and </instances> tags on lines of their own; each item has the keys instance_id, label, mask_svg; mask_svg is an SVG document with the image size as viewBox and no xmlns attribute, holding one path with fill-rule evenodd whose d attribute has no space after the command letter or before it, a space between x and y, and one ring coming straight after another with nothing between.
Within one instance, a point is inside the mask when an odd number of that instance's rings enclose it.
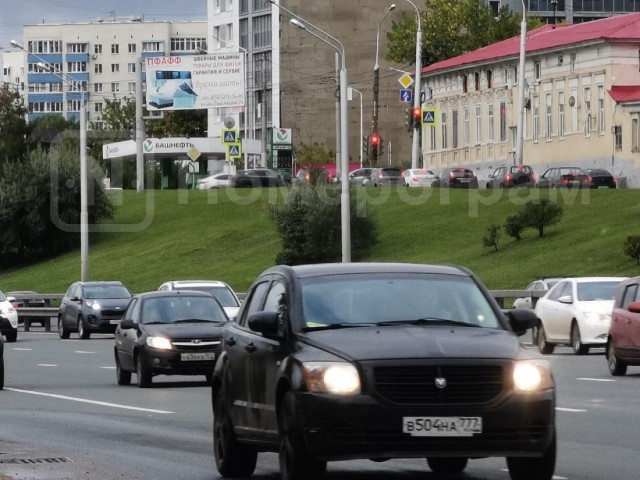
<instances>
[{"instance_id":1,"label":"tall light pole rising directly behind the large black foreground car","mask_svg":"<svg viewBox=\"0 0 640 480\"><path fill-rule=\"evenodd\" d=\"M351 199L349 196L349 122L347 110L347 59L345 55L344 45L335 37L332 37L324 30L307 22L305 19L296 15L292 11L275 3L275 0L267 0L267 2L275 5L279 9L287 12L292 18L290 23L318 40L326 43L340 54L340 223L342 232L342 262L351 261Z\"/></svg>"}]
</instances>

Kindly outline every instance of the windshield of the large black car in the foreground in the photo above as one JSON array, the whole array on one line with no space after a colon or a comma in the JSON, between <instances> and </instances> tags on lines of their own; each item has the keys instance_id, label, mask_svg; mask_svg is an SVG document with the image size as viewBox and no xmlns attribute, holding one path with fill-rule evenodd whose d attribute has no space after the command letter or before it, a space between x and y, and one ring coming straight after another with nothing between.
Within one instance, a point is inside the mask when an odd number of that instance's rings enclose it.
<instances>
[{"instance_id":1,"label":"windshield of the large black car in the foreground","mask_svg":"<svg viewBox=\"0 0 640 480\"><path fill-rule=\"evenodd\" d=\"M314 277L303 280L302 299L305 329L334 324L406 325L414 321L501 328L488 300L469 277L438 274Z\"/></svg>"}]
</instances>

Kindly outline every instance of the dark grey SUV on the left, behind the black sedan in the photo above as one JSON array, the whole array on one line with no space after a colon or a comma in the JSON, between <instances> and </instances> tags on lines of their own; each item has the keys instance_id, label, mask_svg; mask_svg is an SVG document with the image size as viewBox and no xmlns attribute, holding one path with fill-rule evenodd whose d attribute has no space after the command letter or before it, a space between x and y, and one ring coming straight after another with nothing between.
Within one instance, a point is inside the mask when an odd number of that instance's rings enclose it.
<instances>
[{"instance_id":1,"label":"dark grey SUV on the left, behind the black sedan","mask_svg":"<svg viewBox=\"0 0 640 480\"><path fill-rule=\"evenodd\" d=\"M71 332L86 340L92 333L114 333L131 300L118 281L75 282L67 289L58 311L58 335Z\"/></svg>"}]
</instances>

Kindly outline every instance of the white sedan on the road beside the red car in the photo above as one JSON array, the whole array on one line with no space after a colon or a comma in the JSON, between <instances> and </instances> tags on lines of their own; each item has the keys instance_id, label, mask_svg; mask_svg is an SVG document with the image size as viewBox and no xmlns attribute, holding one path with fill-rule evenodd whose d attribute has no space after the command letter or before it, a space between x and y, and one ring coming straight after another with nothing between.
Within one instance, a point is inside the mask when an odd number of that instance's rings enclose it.
<instances>
[{"instance_id":1,"label":"white sedan on the road beside the red car","mask_svg":"<svg viewBox=\"0 0 640 480\"><path fill-rule=\"evenodd\" d=\"M556 345L571 345L584 355L604 347L611 324L615 291L625 277L577 277L558 282L536 303L540 320L535 332L541 353Z\"/></svg>"}]
</instances>

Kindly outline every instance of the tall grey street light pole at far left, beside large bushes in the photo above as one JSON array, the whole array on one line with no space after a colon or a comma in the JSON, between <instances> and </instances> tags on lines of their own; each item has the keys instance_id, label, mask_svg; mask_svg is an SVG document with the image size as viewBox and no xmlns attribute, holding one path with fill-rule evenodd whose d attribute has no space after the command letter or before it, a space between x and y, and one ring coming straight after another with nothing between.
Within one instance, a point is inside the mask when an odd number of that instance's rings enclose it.
<instances>
[{"instance_id":1,"label":"tall grey street light pole at far left, beside large bushes","mask_svg":"<svg viewBox=\"0 0 640 480\"><path fill-rule=\"evenodd\" d=\"M11 45L38 59L38 67L48 71L69 85L73 90L80 92L80 280L89 279L89 213L87 210L87 105L85 103L85 88L79 88L78 83L65 72L55 69L49 62L31 53L15 40ZM28 57L27 57L28 63Z\"/></svg>"}]
</instances>

